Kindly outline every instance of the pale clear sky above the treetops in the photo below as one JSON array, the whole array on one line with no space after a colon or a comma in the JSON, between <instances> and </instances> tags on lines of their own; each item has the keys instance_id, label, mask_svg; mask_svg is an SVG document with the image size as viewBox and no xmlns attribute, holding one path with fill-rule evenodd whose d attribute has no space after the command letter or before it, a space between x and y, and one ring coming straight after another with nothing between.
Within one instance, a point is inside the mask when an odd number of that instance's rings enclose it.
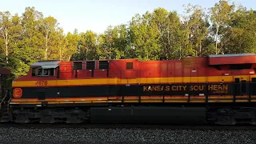
<instances>
[{"instance_id":1,"label":"pale clear sky above the treetops","mask_svg":"<svg viewBox=\"0 0 256 144\"><path fill-rule=\"evenodd\" d=\"M163 7L177 10L182 14L183 4L197 4L208 9L218 0L0 0L0 10L9 10L11 14L21 15L27 6L34 6L44 16L53 16L58 20L65 33L93 30L102 33L107 26L127 23L134 14L144 14ZM248 9L256 10L254 0L231 0Z\"/></svg>"}]
</instances>

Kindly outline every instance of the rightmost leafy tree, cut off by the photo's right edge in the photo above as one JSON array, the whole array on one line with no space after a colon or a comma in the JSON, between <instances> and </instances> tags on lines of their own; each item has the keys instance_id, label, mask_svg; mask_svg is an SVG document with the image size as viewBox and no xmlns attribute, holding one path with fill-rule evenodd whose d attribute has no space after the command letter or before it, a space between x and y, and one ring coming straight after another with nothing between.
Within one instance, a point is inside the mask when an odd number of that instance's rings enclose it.
<instances>
[{"instance_id":1,"label":"rightmost leafy tree, cut off by the photo's right edge","mask_svg":"<svg viewBox=\"0 0 256 144\"><path fill-rule=\"evenodd\" d=\"M253 10L239 7L233 13L233 21L222 37L226 53L255 53L256 14Z\"/></svg>"}]
</instances>

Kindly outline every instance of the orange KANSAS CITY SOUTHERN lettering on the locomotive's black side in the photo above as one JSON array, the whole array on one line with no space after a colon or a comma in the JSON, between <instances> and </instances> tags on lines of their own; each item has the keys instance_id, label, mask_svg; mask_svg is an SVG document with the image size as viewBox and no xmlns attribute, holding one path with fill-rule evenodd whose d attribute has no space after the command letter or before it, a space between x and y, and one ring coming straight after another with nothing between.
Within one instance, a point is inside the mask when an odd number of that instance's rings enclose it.
<instances>
[{"instance_id":1,"label":"orange KANSAS CITY SOUTHERN lettering on the locomotive's black side","mask_svg":"<svg viewBox=\"0 0 256 144\"><path fill-rule=\"evenodd\" d=\"M228 85L193 85L193 86L143 86L143 91L218 91L219 93L227 93Z\"/></svg>"}]
</instances>

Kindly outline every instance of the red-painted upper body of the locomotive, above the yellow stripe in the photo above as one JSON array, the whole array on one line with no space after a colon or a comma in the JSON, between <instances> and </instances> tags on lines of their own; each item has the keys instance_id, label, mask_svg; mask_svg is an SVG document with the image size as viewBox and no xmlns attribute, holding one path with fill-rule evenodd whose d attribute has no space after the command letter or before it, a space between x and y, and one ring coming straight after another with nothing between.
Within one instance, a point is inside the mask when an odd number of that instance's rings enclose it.
<instances>
[{"instance_id":1,"label":"red-painted upper body of the locomotive, above the yellow stripe","mask_svg":"<svg viewBox=\"0 0 256 144\"><path fill-rule=\"evenodd\" d=\"M54 76L33 77L32 68L28 74L14 81L37 81L58 79L76 79L76 78L167 78L167 77L207 77L207 76L225 76L226 75L252 75L256 68L255 55L242 55L224 57L220 55L217 58L183 58L181 60L164 61L138 61L137 59L108 60L109 75L107 70L100 70L99 62L102 61L74 61L82 62L82 70L73 69L74 62L59 62L59 69L55 70ZM86 70L86 62L95 62L95 70ZM132 62L132 69L127 70L127 62ZM250 67L242 70L231 70L230 64L252 64ZM224 65L227 64L227 65ZM59 70L59 71L58 71ZM253 72L253 73L252 73ZM94 75L92 76L92 73Z\"/></svg>"}]
</instances>

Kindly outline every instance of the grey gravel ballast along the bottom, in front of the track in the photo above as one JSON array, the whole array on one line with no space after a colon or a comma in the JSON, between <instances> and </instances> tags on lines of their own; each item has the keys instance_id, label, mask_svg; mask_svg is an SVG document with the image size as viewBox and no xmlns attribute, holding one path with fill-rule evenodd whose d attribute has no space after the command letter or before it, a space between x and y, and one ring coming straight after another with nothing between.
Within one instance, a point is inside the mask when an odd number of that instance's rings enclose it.
<instances>
[{"instance_id":1,"label":"grey gravel ballast along the bottom, in front of the track","mask_svg":"<svg viewBox=\"0 0 256 144\"><path fill-rule=\"evenodd\" d=\"M253 130L20 129L0 128L0 143L254 144Z\"/></svg>"}]
</instances>

